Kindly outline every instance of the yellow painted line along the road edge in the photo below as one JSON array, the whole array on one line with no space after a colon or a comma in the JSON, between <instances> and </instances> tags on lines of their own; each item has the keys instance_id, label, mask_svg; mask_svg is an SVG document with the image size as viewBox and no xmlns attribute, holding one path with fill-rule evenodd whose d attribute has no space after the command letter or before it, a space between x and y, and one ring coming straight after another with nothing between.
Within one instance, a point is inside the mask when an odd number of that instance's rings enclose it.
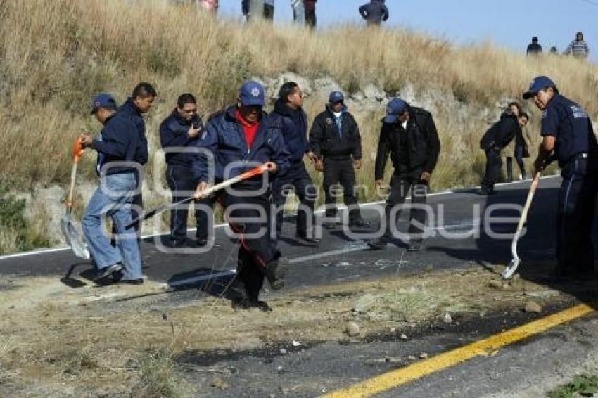
<instances>
[{"instance_id":1,"label":"yellow painted line along the road edge","mask_svg":"<svg viewBox=\"0 0 598 398\"><path fill-rule=\"evenodd\" d=\"M405 368L384 373L383 375L370 378L343 390L331 392L330 394L324 395L323 398L371 397L374 394L379 394L395 387L399 387L400 385L417 380L425 375L441 371L445 368L450 368L451 366L455 366L471 358L495 354L500 347L545 332L550 328L554 328L554 326L559 326L562 323L580 318L581 316L585 316L592 312L594 312L594 308L587 304L579 304L556 314L538 319L537 321L519 326L518 328L492 335L489 338L478 340L464 347L453 349L452 351L445 352L424 361L416 362Z\"/></svg>"}]
</instances>

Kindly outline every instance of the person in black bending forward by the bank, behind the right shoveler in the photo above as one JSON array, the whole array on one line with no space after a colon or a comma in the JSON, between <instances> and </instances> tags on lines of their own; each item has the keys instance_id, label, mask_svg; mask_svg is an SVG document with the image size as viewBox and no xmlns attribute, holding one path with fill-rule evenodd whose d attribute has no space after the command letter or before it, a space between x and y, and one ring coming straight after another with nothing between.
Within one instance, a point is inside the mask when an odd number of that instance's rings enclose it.
<instances>
[{"instance_id":1,"label":"person in black bending forward by the bank, behind the right shoveler","mask_svg":"<svg viewBox=\"0 0 598 398\"><path fill-rule=\"evenodd\" d=\"M494 193L494 184L502 167L500 151L509 145L517 131L521 131L528 120L529 116L524 112L520 112L519 115L503 113L500 120L492 124L482 137L480 148L486 153L486 171L481 183L481 193L484 195Z\"/></svg>"}]
</instances>

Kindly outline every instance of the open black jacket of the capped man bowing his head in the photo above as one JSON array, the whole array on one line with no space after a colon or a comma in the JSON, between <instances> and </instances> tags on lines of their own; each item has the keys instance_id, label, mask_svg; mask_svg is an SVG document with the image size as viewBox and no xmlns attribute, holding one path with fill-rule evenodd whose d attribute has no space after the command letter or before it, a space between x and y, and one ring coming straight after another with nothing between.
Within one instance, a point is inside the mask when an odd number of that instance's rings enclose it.
<instances>
[{"instance_id":1,"label":"open black jacket of the capped man bowing his head","mask_svg":"<svg viewBox=\"0 0 598 398\"><path fill-rule=\"evenodd\" d=\"M432 114L414 106L409 106L408 110L409 122L407 122L406 133L409 159L399 158L400 137L398 134L402 132L399 122L382 122L374 172L376 180L384 178L384 168L389 153L395 169L398 169L400 165L407 165L407 169L410 171L421 169L423 172L432 173L436 167L440 154L440 140Z\"/></svg>"}]
</instances>

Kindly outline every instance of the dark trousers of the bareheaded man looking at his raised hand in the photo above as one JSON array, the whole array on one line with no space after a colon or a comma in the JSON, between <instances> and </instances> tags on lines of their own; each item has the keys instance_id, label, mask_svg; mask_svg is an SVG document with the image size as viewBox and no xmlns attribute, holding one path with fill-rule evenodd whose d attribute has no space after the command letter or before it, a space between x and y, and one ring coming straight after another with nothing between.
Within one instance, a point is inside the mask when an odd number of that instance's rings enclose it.
<instances>
[{"instance_id":1,"label":"dark trousers of the bareheaded man looking at his raised hand","mask_svg":"<svg viewBox=\"0 0 598 398\"><path fill-rule=\"evenodd\" d=\"M193 195L196 188L196 182L193 179L191 168L184 166L168 166L166 168L166 181L170 191L172 191L172 203L177 203L189 195ZM208 239L210 231L209 218L213 219L212 211L205 211L203 207L198 205L205 205L214 208L214 198L205 198L198 200L195 207L195 218L197 224L196 238ZM189 215L189 205L181 206L173 209L170 212L170 239L174 242L181 243L187 237L187 216ZM213 225L213 222L212 222Z\"/></svg>"}]
</instances>

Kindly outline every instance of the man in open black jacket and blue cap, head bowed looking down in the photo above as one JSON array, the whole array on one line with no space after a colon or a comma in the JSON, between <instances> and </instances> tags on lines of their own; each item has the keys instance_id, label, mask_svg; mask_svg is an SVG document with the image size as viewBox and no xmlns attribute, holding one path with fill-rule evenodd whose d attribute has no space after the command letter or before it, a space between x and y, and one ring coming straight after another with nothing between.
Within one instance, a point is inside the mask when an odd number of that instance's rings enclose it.
<instances>
[{"instance_id":1,"label":"man in open black jacket and blue cap, head bowed looking down","mask_svg":"<svg viewBox=\"0 0 598 398\"><path fill-rule=\"evenodd\" d=\"M390 195L386 201L386 231L381 238L367 241L372 249L384 248L392 238L399 214L393 209L405 203L409 189L412 205L415 205L409 217L409 250L421 249L426 223L426 210L421 206L426 205L430 178L439 153L440 140L431 113L410 106L400 98L390 101L378 141L376 188L383 185L389 154L395 172L390 179Z\"/></svg>"}]
</instances>

